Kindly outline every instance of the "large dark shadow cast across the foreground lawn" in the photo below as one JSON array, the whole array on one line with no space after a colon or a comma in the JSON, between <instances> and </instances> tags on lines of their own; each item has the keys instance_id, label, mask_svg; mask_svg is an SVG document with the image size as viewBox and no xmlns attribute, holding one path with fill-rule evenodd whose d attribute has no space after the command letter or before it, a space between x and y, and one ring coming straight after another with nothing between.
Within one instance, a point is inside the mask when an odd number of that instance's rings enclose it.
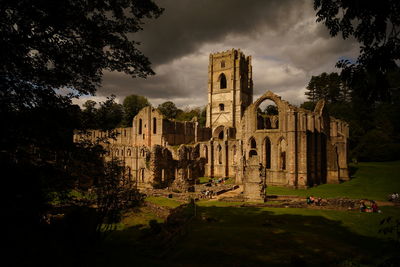
<instances>
[{"instance_id":1,"label":"large dark shadow cast across the foreground lawn","mask_svg":"<svg viewBox=\"0 0 400 267\"><path fill-rule=\"evenodd\" d=\"M184 212L187 217L188 209ZM196 216L183 231L174 232L177 225L166 223L162 231L131 227L114 233L88 255L85 265L375 266L394 252L392 243L319 216L276 215L254 207L196 207L189 212Z\"/></svg>"}]
</instances>

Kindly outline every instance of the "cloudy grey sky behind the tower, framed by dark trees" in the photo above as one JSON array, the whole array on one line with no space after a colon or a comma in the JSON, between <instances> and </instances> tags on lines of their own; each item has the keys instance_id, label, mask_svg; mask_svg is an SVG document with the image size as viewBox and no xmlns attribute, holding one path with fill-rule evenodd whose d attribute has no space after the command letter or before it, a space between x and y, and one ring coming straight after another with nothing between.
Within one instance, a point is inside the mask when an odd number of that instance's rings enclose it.
<instances>
[{"instance_id":1,"label":"cloudy grey sky behind the tower, framed by dark trees","mask_svg":"<svg viewBox=\"0 0 400 267\"><path fill-rule=\"evenodd\" d=\"M209 54L237 48L253 57L254 100L271 90L300 104L312 75L337 71L338 59L356 58L359 50L353 40L330 37L316 22L312 0L156 2L164 13L134 37L156 75L106 72L94 100L137 94L153 106L169 100L180 108L205 105Z\"/></svg>"}]
</instances>

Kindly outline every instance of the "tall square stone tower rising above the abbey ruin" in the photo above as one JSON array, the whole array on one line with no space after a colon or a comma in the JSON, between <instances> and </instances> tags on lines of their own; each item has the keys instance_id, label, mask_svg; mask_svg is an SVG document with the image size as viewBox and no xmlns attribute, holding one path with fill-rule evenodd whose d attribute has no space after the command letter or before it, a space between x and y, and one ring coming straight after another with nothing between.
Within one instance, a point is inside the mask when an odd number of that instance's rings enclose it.
<instances>
[{"instance_id":1,"label":"tall square stone tower rising above the abbey ruin","mask_svg":"<svg viewBox=\"0 0 400 267\"><path fill-rule=\"evenodd\" d=\"M252 102L251 57L236 49L210 54L206 127L238 127Z\"/></svg>"}]
</instances>

